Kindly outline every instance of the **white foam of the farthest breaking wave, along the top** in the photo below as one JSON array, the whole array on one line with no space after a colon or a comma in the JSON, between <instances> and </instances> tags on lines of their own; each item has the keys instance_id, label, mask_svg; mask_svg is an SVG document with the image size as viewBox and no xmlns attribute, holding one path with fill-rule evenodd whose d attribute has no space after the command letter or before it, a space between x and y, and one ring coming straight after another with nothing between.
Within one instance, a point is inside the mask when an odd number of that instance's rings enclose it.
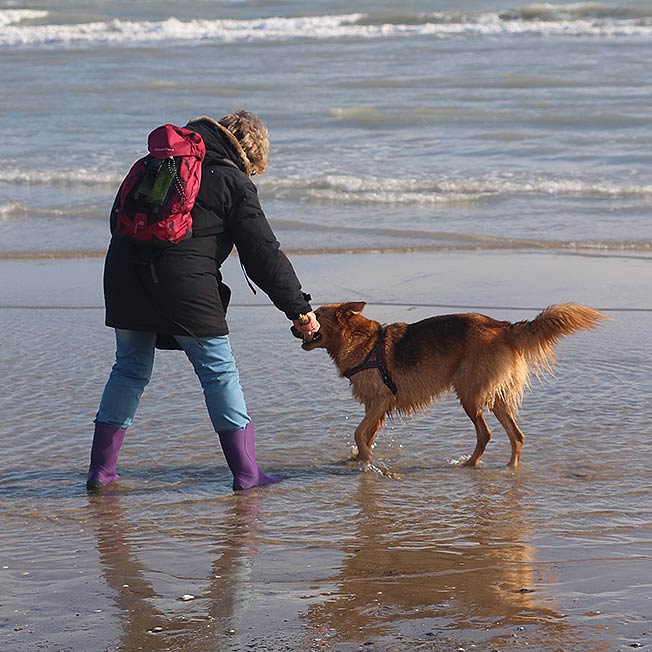
<instances>
[{"instance_id":1,"label":"white foam of the farthest breaking wave, along the top","mask_svg":"<svg viewBox=\"0 0 652 652\"><path fill-rule=\"evenodd\" d=\"M272 17L250 20L162 21L114 19L75 24L24 24L47 12L4 12L0 47L102 44L172 44L190 41L283 41L293 39L379 39L401 36L652 36L645 12L619 12L597 3L533 4L522 9L476 14L434 13L382 22L367 14ZM624 13L624 15L623 15ZM400 22L403 20L404 22Z\"/></svg>"}]
</instances>

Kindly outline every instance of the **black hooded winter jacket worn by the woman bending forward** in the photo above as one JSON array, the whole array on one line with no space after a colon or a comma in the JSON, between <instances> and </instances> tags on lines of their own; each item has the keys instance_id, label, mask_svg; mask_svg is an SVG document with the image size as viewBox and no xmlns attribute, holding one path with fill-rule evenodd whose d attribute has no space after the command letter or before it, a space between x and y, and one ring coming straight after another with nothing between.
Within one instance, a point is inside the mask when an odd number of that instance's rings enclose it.
<instances>
[{"instance_id":1,"label":"black hooded winter jacket worn by the woman bending forward","mask_svg":"<svg viewBox=\"0 0 652 652\"><path fill-rule=\"evenodd\" d=\"M210 118L186 126L206 145L192 210L193 235L162 250L133 244L115 233L114 204L104 266L106 325L157 333L164 348L173 342L170 335L228 334L231 291L222 282L220 267L234 245L249 278L289 319L310 312L310 297L301 291L263 213L237 141Z\"/></svg>"}]
</instances>

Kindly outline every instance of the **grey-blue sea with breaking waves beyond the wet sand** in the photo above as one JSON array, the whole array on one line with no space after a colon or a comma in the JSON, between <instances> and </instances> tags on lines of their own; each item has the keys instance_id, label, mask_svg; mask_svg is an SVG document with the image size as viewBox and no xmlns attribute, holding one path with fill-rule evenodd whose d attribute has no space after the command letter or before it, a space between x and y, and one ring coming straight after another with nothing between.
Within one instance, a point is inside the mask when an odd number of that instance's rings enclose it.
<instances>
[{"instance_id":1,"label":"grey-blue sea with breaking waves beyond the wet sand","mask_svg":"<svg viewBox=\"0 0 652 652\"><path fill-rule=\"evenodd\" d=\"M652 4L0 2L0 253L101 250L163 122L269 125L290 250L650 254Z\"/></svg>"}]
</instances>

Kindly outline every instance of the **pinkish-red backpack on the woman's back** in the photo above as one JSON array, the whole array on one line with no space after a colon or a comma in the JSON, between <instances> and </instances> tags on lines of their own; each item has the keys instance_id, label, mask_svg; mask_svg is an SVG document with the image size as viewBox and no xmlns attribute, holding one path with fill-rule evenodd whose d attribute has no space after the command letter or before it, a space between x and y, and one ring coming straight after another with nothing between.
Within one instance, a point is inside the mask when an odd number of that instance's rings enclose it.
<instances>
[{"instance_id":1,"label":"pinkish-red backpack on the woman's back","mask_svg":"<svg viewBox=\"0 0 652 652\"><path fill-rule=\"evenodd\" d=\"M206 146L197 132L165 124L149 135L147 149L122 182L115 228L145 246L178 244L192 235Z\"/></svg>"}]
</instances>

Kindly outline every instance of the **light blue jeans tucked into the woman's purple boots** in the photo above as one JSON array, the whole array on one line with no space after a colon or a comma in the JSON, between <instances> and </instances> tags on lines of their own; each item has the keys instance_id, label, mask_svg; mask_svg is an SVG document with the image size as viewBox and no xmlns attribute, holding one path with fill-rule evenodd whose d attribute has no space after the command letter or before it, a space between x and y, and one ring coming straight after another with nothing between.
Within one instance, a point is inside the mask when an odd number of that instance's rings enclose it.
<instances>
[{"instance_id":1,"label":"light blue jeans tucked into the woman's purple boots","mask_svg":"<svg viewBox=\"0 0 652 652\"><path fill-rule=\"evenodd\" d=\"M128 428L152 375L156 335L116 329L115 336L115 364L95 421ZM174 338L199 377L215 432L244 428L250 418L229 338L226 335L197 338L202 346L192 337L175 335Z\"/></svg>"}]
</instances>

